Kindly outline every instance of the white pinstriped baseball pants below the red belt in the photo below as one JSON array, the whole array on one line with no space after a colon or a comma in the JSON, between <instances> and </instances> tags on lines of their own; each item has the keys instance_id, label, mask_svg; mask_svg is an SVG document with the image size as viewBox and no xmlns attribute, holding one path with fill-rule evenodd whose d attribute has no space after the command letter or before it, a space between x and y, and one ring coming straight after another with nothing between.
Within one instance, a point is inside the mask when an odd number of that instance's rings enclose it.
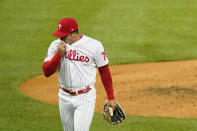
<instances>
[{"instance_id":1,"label":"white pinstriped baseball pants below the red belt","mask_svg":"<svg viewBox=\"0 0 197 131\"><path fill-rule=\"evenodd\" d=\"M88 131L94 114L96 90L72 96L59 90L59 110L64 131Z\"/></svg>"}]
</instances>

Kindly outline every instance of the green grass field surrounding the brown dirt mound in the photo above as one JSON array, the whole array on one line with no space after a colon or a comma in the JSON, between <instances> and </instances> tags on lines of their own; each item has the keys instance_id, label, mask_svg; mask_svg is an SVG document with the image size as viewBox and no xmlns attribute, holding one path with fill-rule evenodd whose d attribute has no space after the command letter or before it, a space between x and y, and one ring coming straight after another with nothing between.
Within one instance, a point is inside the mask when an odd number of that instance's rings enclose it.
<instances>
[{"instance_id":1,"label":"green grass field surrounding the brown dirt mound","mask_svg":"<svg viewBox=\"0 0 197 131\"><path fill-rule=\"evenodd\" d=\"M60 131L57 105L17 88L42 74L60 18L103 42L111 65L197 59L196 0L0 0L0 130ZM197 119L128 116L110 126L95 114L91 131L196 131Z\"/></svg>"}]
</instances>

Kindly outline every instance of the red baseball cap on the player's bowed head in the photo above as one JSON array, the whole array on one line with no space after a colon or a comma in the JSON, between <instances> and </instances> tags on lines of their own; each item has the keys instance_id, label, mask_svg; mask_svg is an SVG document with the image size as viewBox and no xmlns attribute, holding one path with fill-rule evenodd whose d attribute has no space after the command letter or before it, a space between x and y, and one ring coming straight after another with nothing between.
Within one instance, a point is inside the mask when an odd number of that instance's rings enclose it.
<instances>
[{"instance_id":1,"label":"red baseball cap on the player's bowed head","mask_svg":"<svg viewBox=\"0 0 197 131\"><path fill-rule=\"evenodd\" d=\"M58 30L53 33L55 37L65 37L78 30L78 24L73 18L64 18L59 21Z\"/></svg>"}]
</instances>

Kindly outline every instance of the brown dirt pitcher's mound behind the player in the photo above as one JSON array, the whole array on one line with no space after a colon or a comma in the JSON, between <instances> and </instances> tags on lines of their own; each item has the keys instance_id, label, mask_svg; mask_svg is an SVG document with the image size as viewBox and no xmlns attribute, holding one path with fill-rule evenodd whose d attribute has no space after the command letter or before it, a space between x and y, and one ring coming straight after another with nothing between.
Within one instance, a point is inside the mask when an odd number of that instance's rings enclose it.
<instances>
[{"instance_id":1,"label":"brown dirt pitcher's mound behind the player","mask_svg":"<svg viewBox=\"0 0 197 131\"><path fill-rule=\"evenodd\" d=\"M197 61L110 67L115 96L127 115L197 118ZM96 112L106 93L97 74ZM35 77L19 88L30 97L58 104L57 74Z\"/></svg>"}]
</instances>

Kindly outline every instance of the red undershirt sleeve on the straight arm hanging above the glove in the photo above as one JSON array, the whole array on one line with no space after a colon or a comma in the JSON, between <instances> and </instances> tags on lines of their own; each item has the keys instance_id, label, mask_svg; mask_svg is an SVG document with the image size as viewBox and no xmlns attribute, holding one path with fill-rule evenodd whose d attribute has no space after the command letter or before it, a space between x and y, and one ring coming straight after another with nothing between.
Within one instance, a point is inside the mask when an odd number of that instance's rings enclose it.
<instances>
[{"instance_id":1,"label":"red undershirt sleeve on the straight arm hanging above the glove","mask_svg":"<svg viewBox=\"0 0 197 131\"><path fill-rule=\"evenodd\" d=\"M115 99L114 91L113 91L113 84L112 84L112 77L111 77L111 73L110 73L108 65L99 67L98 70L99 70L103 85L105 87L105 90L107 92L108 100Z\"/></svg>"}]
</instances>

